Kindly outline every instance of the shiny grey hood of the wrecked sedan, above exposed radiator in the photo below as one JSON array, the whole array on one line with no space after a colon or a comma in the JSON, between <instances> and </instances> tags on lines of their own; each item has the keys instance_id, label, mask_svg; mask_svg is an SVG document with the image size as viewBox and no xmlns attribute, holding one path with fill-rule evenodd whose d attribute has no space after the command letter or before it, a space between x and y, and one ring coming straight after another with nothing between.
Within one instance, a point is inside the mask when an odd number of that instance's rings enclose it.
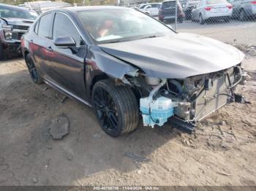
<instances>
[{"instance_id":1,"label":"shiny grey hood of the wrecked sedan, above exposed radiator","mask_svg":"<svg viewBox=\"0 0 256 191\"><path fill-rule=\"evenodd\" d=\"M148 76L159 78L184 79L221 71L244 59L244 53L236 47L196 34L172 34L99 47Z\"/></svg>"}]
</instances>

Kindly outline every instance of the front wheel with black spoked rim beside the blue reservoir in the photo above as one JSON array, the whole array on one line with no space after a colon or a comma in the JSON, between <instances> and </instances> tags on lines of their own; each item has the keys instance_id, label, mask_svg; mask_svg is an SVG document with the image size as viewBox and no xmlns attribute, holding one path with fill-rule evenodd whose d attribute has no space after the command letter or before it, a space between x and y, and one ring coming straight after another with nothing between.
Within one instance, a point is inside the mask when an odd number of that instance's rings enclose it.
<instances>
[{"instance_id":1,"label":"front wheel with black spoked rim beside the blue reservoir","mask_svg":"<svg viewBox=\"0 0 256 191\"><path fill-rule=\"evenodd\" d=\"M99 81L91 102L99 125L108 135L121 136L138 127L138 102L131 88L116 86L110 79Z\"/></svg>"}]
</instances>

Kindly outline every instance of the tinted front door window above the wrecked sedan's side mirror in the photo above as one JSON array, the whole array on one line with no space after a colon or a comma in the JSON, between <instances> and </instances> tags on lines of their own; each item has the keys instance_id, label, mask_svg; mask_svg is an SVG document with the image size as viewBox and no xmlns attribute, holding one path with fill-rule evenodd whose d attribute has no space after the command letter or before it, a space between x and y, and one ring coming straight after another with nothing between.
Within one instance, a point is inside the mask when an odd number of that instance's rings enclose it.
<instances>
[{"instance_id":1,"label":"tinted front door window above the wrecked sedan's side mirror","mask_svg":"<svg viewBox=\"0 0 256 191\"><path fill-rule=\"evenodd\" d=\"M53 23L53 39L59 36L71 36L77 46L83 44L78 29L75 28L69 17L61 13L56 13Z\"/></svg>"}]
</instances>

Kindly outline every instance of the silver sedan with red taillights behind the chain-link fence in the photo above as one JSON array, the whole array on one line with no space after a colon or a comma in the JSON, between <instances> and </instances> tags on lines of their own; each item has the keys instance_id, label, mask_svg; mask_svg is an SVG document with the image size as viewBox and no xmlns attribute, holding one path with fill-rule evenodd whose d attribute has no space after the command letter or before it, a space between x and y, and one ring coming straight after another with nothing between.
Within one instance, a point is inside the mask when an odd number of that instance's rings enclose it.
<instances>
[{"instance_id":1,"label":"silver sedan with red taillights behind the chain-link fence","mask_svg":"<svg viewBox=\"0 0 256 191\"><path fill-rule=\"evenodd\" d=\"M192 21L198 20L201 25L206 20L229 22L232 12L233 5L227 0L201 0L195 9L192 9Z\"/></svg>"}]
</instances>

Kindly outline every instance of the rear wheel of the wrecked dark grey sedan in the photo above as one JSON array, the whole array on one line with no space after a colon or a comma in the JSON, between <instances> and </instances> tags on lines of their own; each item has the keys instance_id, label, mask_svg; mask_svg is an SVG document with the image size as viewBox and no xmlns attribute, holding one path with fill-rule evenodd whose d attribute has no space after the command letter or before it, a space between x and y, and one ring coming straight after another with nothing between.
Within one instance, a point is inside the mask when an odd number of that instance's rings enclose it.
<instances>
[{"instance_id":1,"label":"rear wheel of the wrecked dark grey sedan","mask_svg":"<svg viewBox=\"0 0 256 191\"><path fill-rule=\"evenodd\" d=\"M29 69L30 77L33 80L33 82L36 83L37 85L42 84L43 83L42 77L40 76L39 71L36 68L30 54L26 55L25 61L26 61L26 66Z\"/></svg>"}]
</instances>

